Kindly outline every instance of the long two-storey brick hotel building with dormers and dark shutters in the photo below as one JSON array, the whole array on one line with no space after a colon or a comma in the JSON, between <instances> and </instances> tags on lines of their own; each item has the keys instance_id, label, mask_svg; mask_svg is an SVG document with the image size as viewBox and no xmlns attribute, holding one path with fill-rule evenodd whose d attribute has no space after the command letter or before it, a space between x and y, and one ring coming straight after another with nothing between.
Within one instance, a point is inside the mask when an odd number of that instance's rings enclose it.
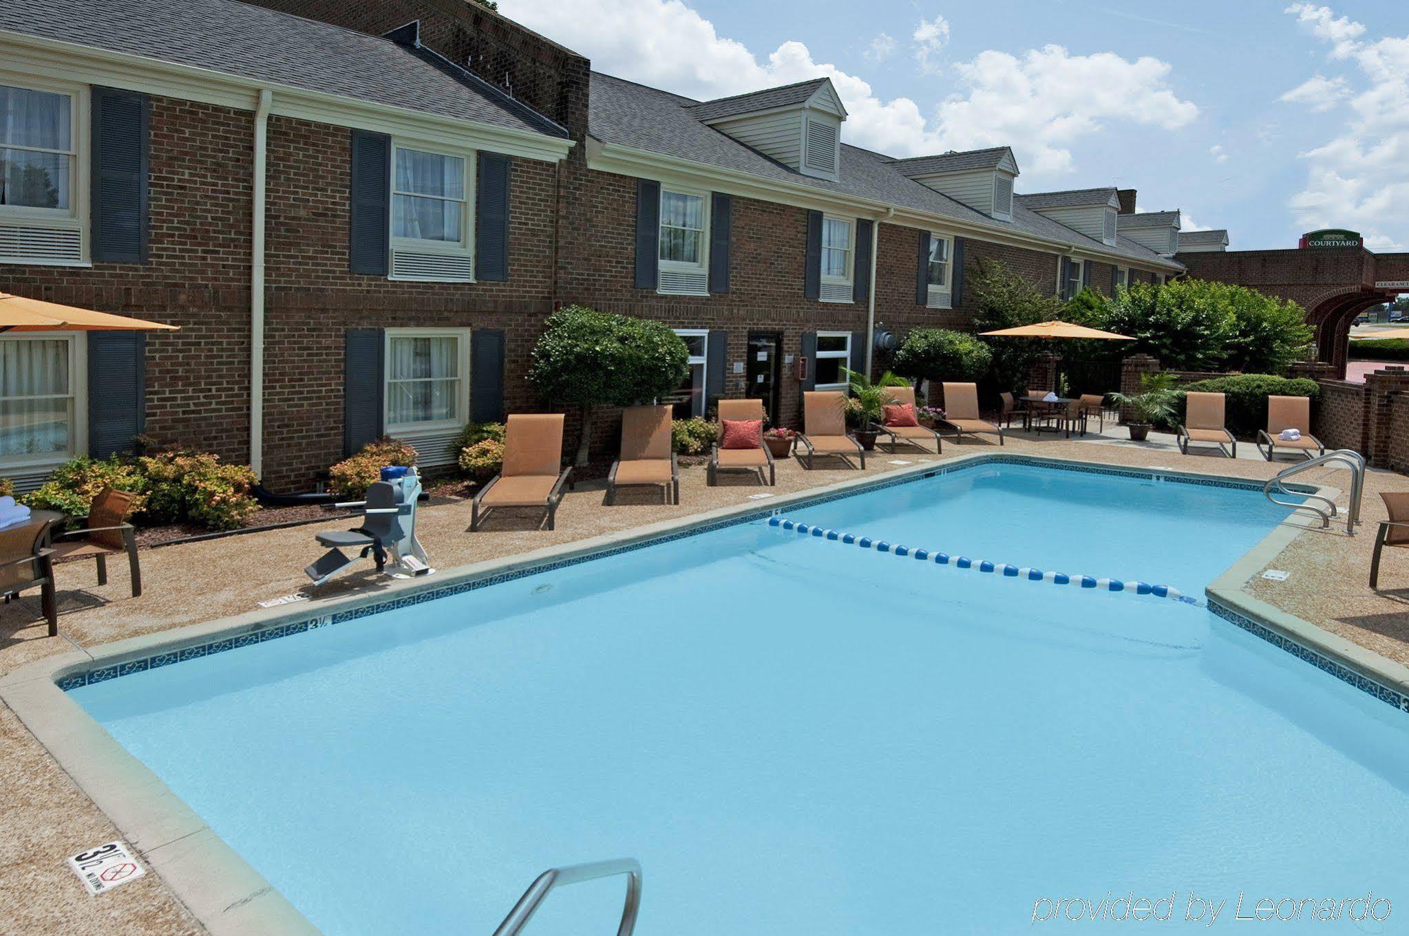
<instances>
[{"instance_id":1,"label":"long two-storey brick hotel building with dormers and dark shutters","mask_svg":"<svg viewBox=\"0 0 1409 936\"><path fill-rule=\"evenodd\" d=\"M524 373L566 303L679 329L682 414L748 393L788 422L875 335L967 327L978 258L1064 296L1184 269L1123 232L1133 193L1014 196L1006 148L841 144L824 79L693 101L462 0L20 0L0 49L30 173L0 290L182 327L0 338L21 483L138 434L269 487L379 432L444 462L466 419L551 403Z\"/></svg>"}]
</instances>

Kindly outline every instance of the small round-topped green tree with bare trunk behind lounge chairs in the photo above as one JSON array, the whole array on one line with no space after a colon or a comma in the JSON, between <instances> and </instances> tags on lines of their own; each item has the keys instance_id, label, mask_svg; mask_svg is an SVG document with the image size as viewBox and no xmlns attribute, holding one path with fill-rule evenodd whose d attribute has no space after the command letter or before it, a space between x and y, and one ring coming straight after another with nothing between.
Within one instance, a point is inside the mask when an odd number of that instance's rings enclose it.
<instances>
[{"instance_id":1,"label":"small round-topped green tree with bare trunk behind lounge chairs","mask_svg":"<svg viewBox=\"0 0 1409 936\"><path fill-rule=\"evenodd\" d=\"M689 373L689 349L661 322L569 305L548 317L528 380L554 403L582 408L575 464L588 463L599 405L631 407L672 393Z\"/></svg>"}]
</instances>

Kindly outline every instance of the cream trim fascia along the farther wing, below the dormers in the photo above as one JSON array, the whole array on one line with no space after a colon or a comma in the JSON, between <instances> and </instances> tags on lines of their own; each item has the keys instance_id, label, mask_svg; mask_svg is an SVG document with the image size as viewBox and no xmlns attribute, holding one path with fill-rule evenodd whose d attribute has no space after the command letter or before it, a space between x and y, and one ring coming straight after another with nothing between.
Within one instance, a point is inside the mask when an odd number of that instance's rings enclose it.
<instances>
[{"instance_id":1,"label":"cream trim fascia along the farther wing, below the dormers","mask_svg":"<svg viewBox=\"0 0 1409 936\"><path fill-rule=\"evenodd\" d=\"M852 214L858 218L885 221L919 231L943 231L951 236L975 238L989 244L1005 244L1029 251L1044 253L1069 253L1085 248L1067 244L1064 241L1048 241L1045 238L1019 234L1006 227L989 227L971 221L960 221L945 215L926 214L910 208L899 208L882 201L858 198L854 196L830 194L827 191L802 183L788 183L758 176L737 169L710 166L689 159L666 156L648 149L635 149L621 144L606 144L595 137L588 138L588 169L595 172L609 172L634 179L654 179L657 182L704 186L712 191L755 198L774 204L786 204L797 208L809 208L821 213ZM1106 253L1091 251L1106 262L1133 263L1124 253ZM1182 273L1182 265L1168 266L1150 262L1154 269Z\"/></svg>"}]
</instances>

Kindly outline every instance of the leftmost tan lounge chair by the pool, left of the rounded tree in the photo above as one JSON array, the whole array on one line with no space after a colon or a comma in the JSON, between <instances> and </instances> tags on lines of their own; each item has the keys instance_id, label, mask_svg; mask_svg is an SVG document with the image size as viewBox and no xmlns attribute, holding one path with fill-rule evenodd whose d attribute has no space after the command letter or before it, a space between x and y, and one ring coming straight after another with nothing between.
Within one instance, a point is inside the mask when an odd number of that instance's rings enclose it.
<instances>
[{"instance_id":1,"label":"leftmost tan lounge chair by the pool, left of the rounded tree","mask_svg":"<svg viewBox=\"0 0 1409 936\"><path fill-rule=\"evenodd\" d=\"M509 417L504 428L504 466L475 494L469 529L475 532L496 507L537 507L554 528L562 486L572 473L562 467L562 414Z\"/></svg>"}]
</instances>

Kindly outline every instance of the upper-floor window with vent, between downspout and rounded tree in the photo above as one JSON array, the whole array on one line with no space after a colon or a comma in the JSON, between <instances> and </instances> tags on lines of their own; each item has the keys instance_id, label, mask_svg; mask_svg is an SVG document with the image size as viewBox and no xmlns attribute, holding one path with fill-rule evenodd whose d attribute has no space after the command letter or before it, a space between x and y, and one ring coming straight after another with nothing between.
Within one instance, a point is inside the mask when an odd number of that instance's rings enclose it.
<instances>
[{"instance_id":1,"label":"upper-floor window with vent, between downspout and rounded tree","mask_svg":"<svg viewBox=\"0 0 1409 936\"><path fill-rule=\"evenodd\" d=\"M475 279L475 155L393 141L392 277Z\"/></svg>"}]
</instances>

